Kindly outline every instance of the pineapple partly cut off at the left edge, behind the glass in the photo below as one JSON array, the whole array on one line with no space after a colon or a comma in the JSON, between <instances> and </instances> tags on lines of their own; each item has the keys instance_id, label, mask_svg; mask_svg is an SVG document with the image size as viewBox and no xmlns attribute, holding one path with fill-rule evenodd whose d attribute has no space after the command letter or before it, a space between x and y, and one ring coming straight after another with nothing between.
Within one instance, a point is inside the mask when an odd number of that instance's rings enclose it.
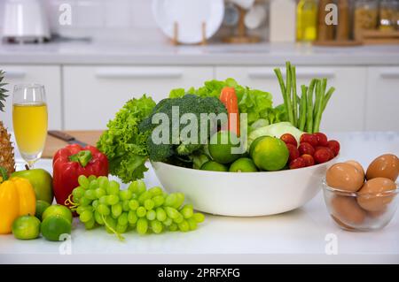
<instances>
[{"instance_id":1,"label":"pineapple partly cut off at the left edge, behind the glass","mask_svg":"<svg viewBox=\"0 0 399 282\"><path fill-rule=\"evenodd\" d=\"M3 88L6 85L2 82L3 79L4 72L0 71L0 111L4 111L5 98L8 96L5 95L7 90ZM10 139L11 135L4 128L3 121L0 120L0 167L4 167L8 174L15 171L14 148Z\"/></svg>"}]
</instances>

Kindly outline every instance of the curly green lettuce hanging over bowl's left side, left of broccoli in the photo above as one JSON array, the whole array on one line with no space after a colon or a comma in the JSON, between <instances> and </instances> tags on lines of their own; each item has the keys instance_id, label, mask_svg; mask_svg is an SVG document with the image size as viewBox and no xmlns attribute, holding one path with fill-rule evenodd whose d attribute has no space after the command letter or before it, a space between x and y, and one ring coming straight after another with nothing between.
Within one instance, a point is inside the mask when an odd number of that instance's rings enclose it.
<instances>
[{"instance_id":1,"label":"curly green lettuce hanging over bowl's left side, left of broccoli","mask_svg":"<svg viewBox=\"0 0 399 282\"><path fill-rule=\"evenodd\" d=\"M98 140L98 149L106 154L110 173L124 183L144 178L145 161L148 158L146 140L149 133L138 130L138 124L148 117L155 102L143 95L131 99L107 124L108 129Z\"/></svg>"}]
</instances>

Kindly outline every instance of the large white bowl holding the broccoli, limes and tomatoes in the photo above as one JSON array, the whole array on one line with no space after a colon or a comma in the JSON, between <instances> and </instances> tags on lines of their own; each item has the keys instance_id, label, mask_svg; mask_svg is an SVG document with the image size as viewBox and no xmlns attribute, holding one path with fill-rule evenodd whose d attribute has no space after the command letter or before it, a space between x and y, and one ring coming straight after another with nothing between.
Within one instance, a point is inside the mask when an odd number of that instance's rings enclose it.
<instances>
[{"instance_id":1,"label":"large white bowl holding the broccoli, limes and tomatoes","mask_svg":"<svg viewBox=\"0 0 399 282\"><path fill-rule=\"evenodd\" d=\"M286 171L200 171L152 162L168 192L182 192L195 210L233 217L268 216L294 210L309 202L321 189L325 164Z\"/></svg>"}]
</instances>

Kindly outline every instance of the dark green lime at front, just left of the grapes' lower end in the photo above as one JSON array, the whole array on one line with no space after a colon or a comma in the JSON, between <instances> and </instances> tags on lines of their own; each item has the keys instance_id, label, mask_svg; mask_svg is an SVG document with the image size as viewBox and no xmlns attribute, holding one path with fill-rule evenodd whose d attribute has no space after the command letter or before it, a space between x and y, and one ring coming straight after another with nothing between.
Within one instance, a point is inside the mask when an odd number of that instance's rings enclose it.
<instances>
[{"instance_id":1,"label":"dark green lime at front, just left of the grapes' lower end","mask_svg":"<svg viewBox=\"0 0 399 282\"><path fill-rule=\"evenodd\" d=\"M71 223L64 217L51 216L42 222L42 235L47 240L63 240L63 234L70 234Z\"/></svg>"}]
</instances>

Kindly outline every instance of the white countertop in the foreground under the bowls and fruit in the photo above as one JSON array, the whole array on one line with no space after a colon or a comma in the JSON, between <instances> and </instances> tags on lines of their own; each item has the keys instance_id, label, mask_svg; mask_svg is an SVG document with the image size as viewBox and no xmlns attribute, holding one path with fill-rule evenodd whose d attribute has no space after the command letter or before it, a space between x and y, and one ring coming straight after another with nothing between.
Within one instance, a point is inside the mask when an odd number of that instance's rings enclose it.
<instances>
[{"instance_id":1,"label":"white countertop in the foreground under the bowls and fruit","mask_svg":"<svg viewBox=\"0 0 399 282\"><path fill-rule=\"evenodd\" d=\"M399 155L399 133L329 133L341 144L340 160L364 166L387 152ZM38 167L51 170L51 160ZM145 174L158 185L153 170ZM317 184L315 184L317 185ZM86 232L74 221L72 241L0 237L0 263L399 263L399 213L376 232L346 232L332 223L321 193L301 209L270 217L207 215L195 232L125 234ZM326 255L332 240L336 255ZM66 254L70 250L71 255Z\"/></svg>"}]
</instances>

